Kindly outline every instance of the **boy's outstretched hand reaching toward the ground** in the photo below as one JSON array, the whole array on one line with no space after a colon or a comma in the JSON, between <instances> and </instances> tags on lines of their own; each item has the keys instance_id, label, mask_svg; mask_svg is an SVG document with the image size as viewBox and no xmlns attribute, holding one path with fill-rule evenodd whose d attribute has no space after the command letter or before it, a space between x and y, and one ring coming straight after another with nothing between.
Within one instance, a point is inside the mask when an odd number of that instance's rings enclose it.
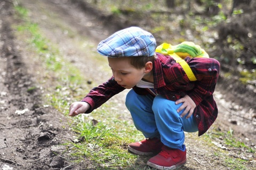
<instances>
[{"instance_id":1,"label":"boy's outstretched hand reaching toward the ground","mask_svg":"<svg viewBox=\"0 0 256 170\"><path fill-rule=\"evenodd\" d=\"M90 108L90 105L86 102L74 102L70 105L69 108L69 116L76 116L79 114L83 114Z\"/></svg>"}]
</instances>

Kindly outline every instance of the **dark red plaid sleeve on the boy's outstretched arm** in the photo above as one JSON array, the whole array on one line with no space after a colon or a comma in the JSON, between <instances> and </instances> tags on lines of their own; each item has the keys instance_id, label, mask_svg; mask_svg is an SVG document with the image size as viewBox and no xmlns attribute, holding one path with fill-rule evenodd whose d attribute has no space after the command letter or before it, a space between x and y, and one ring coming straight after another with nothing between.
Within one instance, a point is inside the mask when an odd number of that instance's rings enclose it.
<instances>
[{"instance_id":1,"label":"dark red plaid sleeve on the boy's outstretched arm","mask_svg":"<svg viewBox=\"0 0 256 170\"><path fill-rule=\"evenodd\" d=\"M124 87L117 84L114 77L108 79L107 82L92 88L92 90L82 100L90 105L90 109L85 112L89 114L94 109L100 107L103 103L108 101L112 96L125 90Z\"/></svg>"}]
</instances>

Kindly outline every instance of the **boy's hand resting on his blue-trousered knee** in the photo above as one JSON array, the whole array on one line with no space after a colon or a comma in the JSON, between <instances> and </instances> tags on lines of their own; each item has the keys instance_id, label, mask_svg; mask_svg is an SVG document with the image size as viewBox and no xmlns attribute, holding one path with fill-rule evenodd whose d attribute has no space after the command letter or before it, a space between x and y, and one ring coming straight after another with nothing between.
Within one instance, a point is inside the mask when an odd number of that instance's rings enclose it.
<instances>
[{"instance_id":1,"label":"boy's hand resting on his blue-trousered knee","mask_svg":"<svg viewBox=\"0 0 256 170\"><path fill-rule=\"evenodd\" d=\"M175 102L175 104L183 103L177 110L177 112L180 112L181 110L185 109L180 117L186 116L186 119L188 119L194 112L194 109L196 108L196 103L188 96L185 95L184 98L181 98Z\"/></svg>"}]
</instances>

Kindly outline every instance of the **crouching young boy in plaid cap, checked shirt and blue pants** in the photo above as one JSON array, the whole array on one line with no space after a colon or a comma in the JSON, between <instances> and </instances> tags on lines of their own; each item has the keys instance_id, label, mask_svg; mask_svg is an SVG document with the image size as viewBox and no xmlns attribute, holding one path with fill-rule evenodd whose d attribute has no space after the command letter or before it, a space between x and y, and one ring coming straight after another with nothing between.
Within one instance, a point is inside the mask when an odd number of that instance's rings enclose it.
<instances>
[{"instance_id":1,"label":"crouching young boy in plaid cap, checked shirt and blue pants","mask_svg":"<svg viewBox=\"0 0 256 170\"><path fill-rule=\"evenodd\" d=\"M72 103L69 116L89 114L115 94L132 88L125 104L146 139L129 144L128 150L155 154L148 166L175 169L186 163L184 131L198 131L200 136L217 118L212 94L220 64L215 59L185 58L197 79L191 82L179 63L155 50L153 35L138 27L117 31L100 42L98 52L108 57L113 76L81 102Z\"/></svg>"}]
</instances>

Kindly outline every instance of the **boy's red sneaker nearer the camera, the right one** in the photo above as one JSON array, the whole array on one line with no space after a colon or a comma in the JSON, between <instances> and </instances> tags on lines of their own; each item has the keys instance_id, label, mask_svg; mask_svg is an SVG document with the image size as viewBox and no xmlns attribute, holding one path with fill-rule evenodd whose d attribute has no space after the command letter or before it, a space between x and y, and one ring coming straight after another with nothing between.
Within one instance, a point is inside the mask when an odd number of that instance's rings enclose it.
<instances>
[{"instance_id":1,"label":"boy's red sneaker nearer the camera, the right one","mask_svg":"<svg viewBox=\"0 0 256 170\"><path fill-rule=\"evenodd\" d=\"M171 170L186 164L186 161L186 150L172 149L164 145L158 155L148 160L147 165L156 169Z\"/></svg>"}]
</instances>

